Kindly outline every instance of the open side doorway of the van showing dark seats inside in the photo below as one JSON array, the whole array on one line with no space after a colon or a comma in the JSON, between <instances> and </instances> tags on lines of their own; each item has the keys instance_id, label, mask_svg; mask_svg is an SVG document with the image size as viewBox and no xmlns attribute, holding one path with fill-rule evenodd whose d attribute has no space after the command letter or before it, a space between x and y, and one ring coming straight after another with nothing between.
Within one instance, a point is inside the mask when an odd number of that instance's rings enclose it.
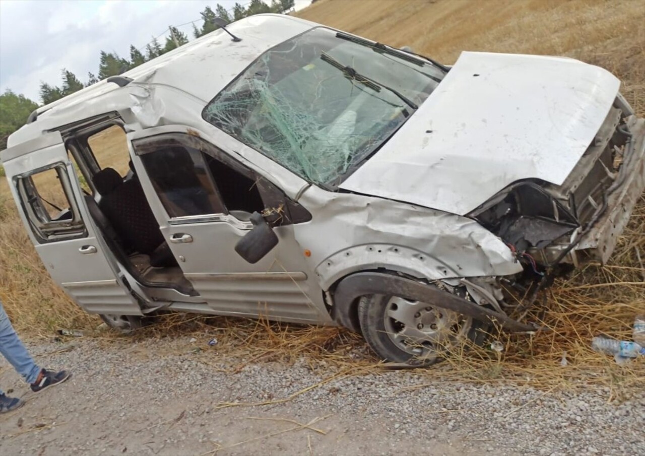
<instances>
[{"instance_id":1,"label":"open side doorway of the van showing dark seats inside","mask_svg":"<svg viewBox=\"0 0 645 456\"><path fill-rule=\"evenodd\" d=\"M66 144L90 217L126 270L144 286L196 295L159 230L121 123L86 126Z\"/></svg>"}]
</instances>

